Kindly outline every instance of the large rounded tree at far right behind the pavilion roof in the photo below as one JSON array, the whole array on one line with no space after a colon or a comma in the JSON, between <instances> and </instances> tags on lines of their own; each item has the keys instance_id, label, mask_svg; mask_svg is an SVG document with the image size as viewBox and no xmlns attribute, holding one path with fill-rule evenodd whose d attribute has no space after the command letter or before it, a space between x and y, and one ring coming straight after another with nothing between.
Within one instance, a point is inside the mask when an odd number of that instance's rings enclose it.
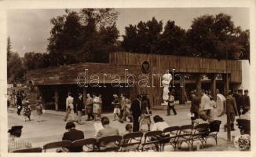
<instances>
[{"instance_id":1,"label":"large rounded tree at far right behind the pavilion roof","mask_svg":"<svg viewBox=\"0 0 256 157\"><path fill-rule=\"evenodd\" d=\"M243 32L243 35L241 35ZM210 57L218 59L244 59L237 55L240 52L248 54L246 47L249 35L235 27L231 16L219 13L216 16L204 15L192 21L191 28L188 29L188 45L192 56ZM243 38L240 40L240 38ZM247 50L245 50L247 49ZM239 57L238 57L239 56Z\"/></svg>"}]
</instances>

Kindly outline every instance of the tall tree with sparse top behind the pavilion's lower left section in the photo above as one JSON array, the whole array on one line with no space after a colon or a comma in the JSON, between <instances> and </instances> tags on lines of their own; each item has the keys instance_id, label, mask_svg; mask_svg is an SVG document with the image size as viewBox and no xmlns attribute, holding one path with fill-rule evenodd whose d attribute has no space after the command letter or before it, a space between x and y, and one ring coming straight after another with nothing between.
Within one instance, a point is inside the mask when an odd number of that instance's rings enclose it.
<instances>
[{"instance_id":1,"label":"tall tree with sparse top behind the pavilion's lower left section","mask_svg":"<svg viewBox=\"0 0 256 157\"><path fill-rule=\"evenodd\" d=\"M66 9L63 16L53 18L49 65L107 62L108 53L118 46L117 16L115 9L82 9L79 13Z\"/></svg>"}]
</instances>

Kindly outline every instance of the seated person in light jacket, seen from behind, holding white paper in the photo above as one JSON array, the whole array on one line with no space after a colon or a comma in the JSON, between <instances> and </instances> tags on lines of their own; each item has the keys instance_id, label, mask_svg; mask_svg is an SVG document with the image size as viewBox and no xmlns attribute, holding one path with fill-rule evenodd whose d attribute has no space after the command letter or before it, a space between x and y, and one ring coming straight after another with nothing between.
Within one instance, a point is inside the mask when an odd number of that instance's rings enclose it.
<instances>
[{"instance_id":1,"label":"seated person in light jacket, seen from behind, holding white paper","mask_svg":"<svg viewBox=\"0 0 256 157\"><path fill-rule=\"evenodd\" d=\"M102 117L101 124L104 127L103 129L99 130L96 134L96 137L108 137L113 135L119 135L119 130L116 128L112 128L109 126L109 119L108 117ZM115 143L108 143L108 144L101 144L101 147L104 146L105 148L113 148L115 147Z\"/></svg>"}]
</instances>

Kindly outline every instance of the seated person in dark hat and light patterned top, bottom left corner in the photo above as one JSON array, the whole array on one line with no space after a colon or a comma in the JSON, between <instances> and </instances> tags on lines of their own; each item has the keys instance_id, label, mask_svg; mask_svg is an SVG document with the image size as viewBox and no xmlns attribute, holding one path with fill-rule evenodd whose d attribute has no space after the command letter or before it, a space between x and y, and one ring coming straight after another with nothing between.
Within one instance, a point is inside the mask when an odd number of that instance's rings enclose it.
<instances>
[{"instance_id":1,"label":"seated person in dark hat and light patterned top, bottom left corner","mask_svg":"<svg viewBox=\"0 0 256 157\"><path fill-rule=\"evenodd\" d=\"M12 126L12 128L8 130L8 152L13 152L19 149L32 148L30 142L20 140L22 128L23 126Z\"/></svg>"}]
</instances>

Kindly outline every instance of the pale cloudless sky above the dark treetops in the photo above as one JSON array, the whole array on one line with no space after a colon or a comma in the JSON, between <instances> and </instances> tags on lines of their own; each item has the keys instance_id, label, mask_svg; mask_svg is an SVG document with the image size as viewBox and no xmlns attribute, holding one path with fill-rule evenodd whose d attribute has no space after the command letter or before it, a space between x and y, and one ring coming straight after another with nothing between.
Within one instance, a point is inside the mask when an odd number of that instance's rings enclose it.
<instances>
[{"instance_id":1,"label":"pale cloudless sky above the dark treetops","mask_svg":"<svg viewBox=\"0 0 256 157\"><path fill-rule=\"evenodd\" d=\"M139 21L168 20L188 29L192 20L205 14L226 13L232 16L235 26L242 30L250 28L250 10L247 8L161 8L161 9L116 9L119 12L116 27L124 35L125 27ZM11 38L12 51L24 57L26 52L46 53L47 38L53 27L50 19L64 14L64 9L9 9L7 12L7 35ZM123 39L123 38L120 38Z\"/></svg>"}]
</instances>

